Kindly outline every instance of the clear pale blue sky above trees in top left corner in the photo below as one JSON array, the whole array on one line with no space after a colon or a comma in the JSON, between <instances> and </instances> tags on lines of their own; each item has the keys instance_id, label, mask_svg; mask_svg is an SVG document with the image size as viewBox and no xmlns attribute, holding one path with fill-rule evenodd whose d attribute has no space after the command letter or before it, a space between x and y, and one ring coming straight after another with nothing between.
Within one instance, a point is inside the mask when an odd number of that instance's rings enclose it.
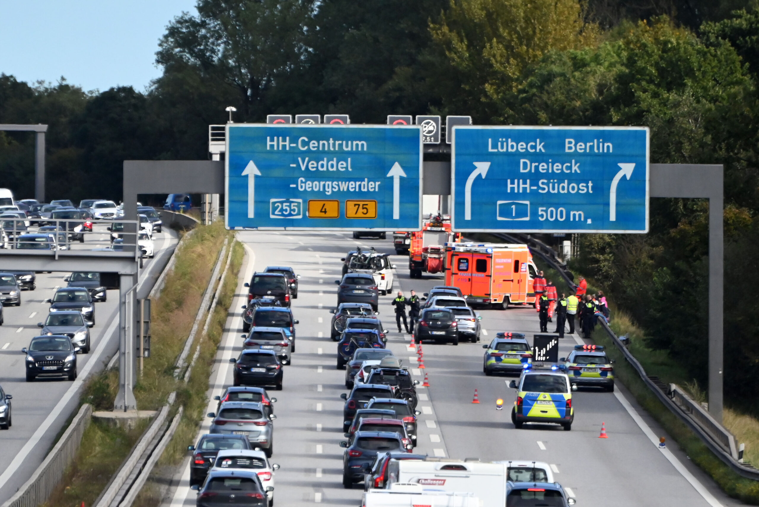
<instances>
[{"instance_id":1,"label":"clear pale blue sky above trees in top left corner","mask_svg":"<svg viewBox=\"0 0 759 507\"><path fill-rule=\"evenodd\" d=\"M0 0L0 73L84 90L159 77L155 53L165 27L196 0Z\"/></svg>"}]
</instances>

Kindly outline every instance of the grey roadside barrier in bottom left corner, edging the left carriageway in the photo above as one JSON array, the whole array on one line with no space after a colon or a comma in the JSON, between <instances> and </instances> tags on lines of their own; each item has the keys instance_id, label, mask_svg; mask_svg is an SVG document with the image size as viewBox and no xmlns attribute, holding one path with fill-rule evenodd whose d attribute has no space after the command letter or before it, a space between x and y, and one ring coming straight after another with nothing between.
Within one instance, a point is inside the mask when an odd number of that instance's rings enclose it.
<instances>
[{"instance_id":1,"label":"grey roadside barrier in bottom left corner, edging the left carriageway","mask_svg":"<svg viewBox=\"0 0 759 507\"><path fill-rule=\"evenodd\" d=\"M2 504L2 507L37 507L50 498L63 474L74 461L79 450L84 430L90 425L92 405L84 404L79 409L68 429L49 452L45 461L39 465L32 477L19 490Z\"/></svg>"}]
</instances>

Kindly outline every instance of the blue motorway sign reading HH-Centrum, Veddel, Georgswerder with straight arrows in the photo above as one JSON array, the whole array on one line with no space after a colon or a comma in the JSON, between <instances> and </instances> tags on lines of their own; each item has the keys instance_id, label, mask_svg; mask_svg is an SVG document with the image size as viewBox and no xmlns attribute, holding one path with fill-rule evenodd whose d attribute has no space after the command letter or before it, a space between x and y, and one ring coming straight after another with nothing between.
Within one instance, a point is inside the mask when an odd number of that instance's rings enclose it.
<instances>
[{"instance_id":1,"label":"blue motorway sign reading HH-Centrum, Veddel, Georgswerder with straight arrows","mask_svg":"<svg viewBox=\"0 0 759 507\"><path fill-rule=\"evenodd\" d=\"M417 125L227 124L227 228L418 231Z\"/></svg>"}]
</instances>

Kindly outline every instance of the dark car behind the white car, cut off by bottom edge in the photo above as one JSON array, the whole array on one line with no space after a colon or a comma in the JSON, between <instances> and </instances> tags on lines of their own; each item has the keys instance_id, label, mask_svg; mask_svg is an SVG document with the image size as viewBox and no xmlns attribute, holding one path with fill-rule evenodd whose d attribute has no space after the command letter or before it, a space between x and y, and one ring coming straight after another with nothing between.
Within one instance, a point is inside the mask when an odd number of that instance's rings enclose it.
<instances>
[{"instance_id":1,"label":"dark car behind the white car, cut off by bottom edge","mask_svg":"<svg viewBox=\"0 0 759 507\"><path fill-rule=\"evenodd\" d=\"M198 490L196 507L266 507L269 504L266 493L274 491L273 486L263 487L253 470L213 470L203 486L194 484L191 488Z\"/></svg>"}]
</instances>

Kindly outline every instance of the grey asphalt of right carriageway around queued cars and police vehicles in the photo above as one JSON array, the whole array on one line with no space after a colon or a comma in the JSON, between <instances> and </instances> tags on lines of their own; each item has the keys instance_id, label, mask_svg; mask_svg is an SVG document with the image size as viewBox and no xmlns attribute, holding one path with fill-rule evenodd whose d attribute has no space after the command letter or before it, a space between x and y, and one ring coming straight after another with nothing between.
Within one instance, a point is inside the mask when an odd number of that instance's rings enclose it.
<instances>
[{"instance_id":1,"label":"grey asphalt of right carriageway around queued cars and police vehicles","mask_svg":"<svg viewBox=\"0 0 759 507\"><path fill-rule=\"evenodd\" d=\"M249 257L242 267L237 296L231 305L228 332L219 348L213 370L209 399L231 385L229 357L241 350L241 304L254 269L269 265L291 266L301 275L298 299L292 308L297 326L298 352L285 367L284 389L271 394L275 405L274 454L272 463L281 465L276 473L276 505L358 505L363 486L342 487L342 406L345 370L335 369L336 345L329 339L329 309L335 307L341 257L357 244L394 253L389 240L359 240L344 233L290 231L244 231L238 234L248 247ZM433 285L443 285L442 276L409 279L408 258L392 255L397 266L394 292L408 295ZM424 370L414 364L416 354L408 349L410 336L396 332L390 301L394 294L380 298L380 319L389 329L388 347L411 367L415 379L424 379ZM424 363L430 388L419 389L417 409L419 435L414 452L450 458L480 458L546 461L556 480L574 496L578 505L742 505L729 499L690 463L670 442L658 449L658 439L666 433L655 424L628 392L617 384L616 392L581 389L573 395L575 422L572 431L556 425L525 425L516 430L510 420L515 391L509 376L484 376L481 345L496 332L538 332L537 313L528 307L509 310L477 310L482 316L483 336L477 344L424 345ZM487 333L487 334L486 334ZM560 342L559 355L565 356L576 343L572 335ZM472 404L477 389L480 404ZM505 408L496 411L497 398ZM213 411L216 402L209 402ZM601 423L606 423L609 439L599 439ZM207 433L209 420L200 433ZM669 439L668 439L669 441ZM178 487L166 504L181 507L195 504L189 489L189 456L176 477Z\"/></svg>"}]
</instances>

